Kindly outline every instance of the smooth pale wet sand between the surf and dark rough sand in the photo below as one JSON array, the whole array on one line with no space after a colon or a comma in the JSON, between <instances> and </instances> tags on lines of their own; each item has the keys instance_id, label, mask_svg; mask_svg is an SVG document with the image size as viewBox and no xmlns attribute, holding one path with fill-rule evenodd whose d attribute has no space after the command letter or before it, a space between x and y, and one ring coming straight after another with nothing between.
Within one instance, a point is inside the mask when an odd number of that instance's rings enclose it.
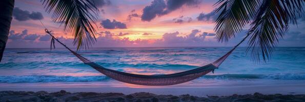
<instances>
[{"instance_id":1,"label":"smooth pale wet sand between the surf and dark rough sand","mask_svg":"<svg viewBox=\"0 0 305 102\"><path fill-rule=\"evenodd\" d=\"M68 92L97 92L97 93L123 93L149 92L153 94L182 95L190 94L198 97L228 96L232 94L305 94L305 84L285 85L255 85L255 86L224 86L224 87L0 87L0 91L46 91L56 92L66 90Z\"/></svg>"}]
</instances>

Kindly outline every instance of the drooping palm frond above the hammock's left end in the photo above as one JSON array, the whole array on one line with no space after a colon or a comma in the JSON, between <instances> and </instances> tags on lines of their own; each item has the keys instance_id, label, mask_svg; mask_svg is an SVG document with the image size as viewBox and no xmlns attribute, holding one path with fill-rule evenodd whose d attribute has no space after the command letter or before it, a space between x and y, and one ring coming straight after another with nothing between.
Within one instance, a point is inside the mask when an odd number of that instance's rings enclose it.
<instances>
[{"instance_id":1,"label":"drooping palm frond above the hammock's left end","mask_svg":"<svg viewBox=\"0 0 305 102\"><path fill-rule=\"evenodd\" d=\"M71 32L74 44L87 48L95 39L98 9L93 0L41 0L54 22L64 22L64 31Z\"/></svg>"}]
</instances>

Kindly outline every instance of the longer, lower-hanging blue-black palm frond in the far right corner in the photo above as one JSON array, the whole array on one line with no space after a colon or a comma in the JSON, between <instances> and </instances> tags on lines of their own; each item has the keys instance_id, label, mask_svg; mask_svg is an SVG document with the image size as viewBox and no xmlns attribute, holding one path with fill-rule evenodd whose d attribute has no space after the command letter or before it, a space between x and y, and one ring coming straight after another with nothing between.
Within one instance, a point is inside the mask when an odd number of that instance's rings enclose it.
<instances>
[{"instance_id":1,"label":"longer, lower-hanging blue-black palm frond in the far right corner","mask_svg":"<svg viewBox=\"0 0 305 102\"><path fill-rule=\"evenodd\" d=\"M278 40L302 12L303 1L263 0L249 29L251 38L247 52L251 51L253 60L269 60Z\"/></svg>"}]
</instances>

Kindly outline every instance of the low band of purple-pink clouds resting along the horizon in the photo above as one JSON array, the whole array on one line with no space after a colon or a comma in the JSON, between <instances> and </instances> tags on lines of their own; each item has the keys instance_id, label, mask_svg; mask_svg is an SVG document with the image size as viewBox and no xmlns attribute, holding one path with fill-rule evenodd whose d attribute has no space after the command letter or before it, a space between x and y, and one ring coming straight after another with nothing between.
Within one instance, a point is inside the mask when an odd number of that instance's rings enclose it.
<instances>
[{"instance_id":1,"label":"low band of purple-pink clouds resting along the horizon","mask_svg":"<svg viewBox=\"0 0 305 102\"><path fill-rule=\"evenodd\" d=\"M27 35L27 30L22 33L15 33L11 31L11 34L18 38L19 40L9 41L8 47L49 47L50 40L49 35L34 36L33 34ZM125 33L114 34L109 31L98 33L96 38L97 42L93 47L160 47L160 46L223 46L221 43L217 43L216 40L207 39L207 36L213 36L213 33L207 33L199 30L192 30L189 34L182 34L179 32L165 33L160 39L136 39L130 40L129 38L118 38L119 35L124 35ZM184 36L180 36L184 35ZM125 34L126 35L126 34ZM144 33L143 35L152 35L150 33ZM17 37L16 37L17 36ZM28 36L26 38L25 36ZM12 36L10 36L11 39ZM69 47L73 47L73 38L66 37L56 37ZM238 37L239 38L239 37ZM242 36L240 37L242 38ZM38 40L37 40L38 39ZM212 38L214 39L214 38ZM37 40L37 41L33 41ZM239 41L239 39L238 39ZM232 42L236 44L236 42ZM227 44L228 45L228 44ZM230 44L231 45L231 44ZM55 42L55 46L63 47Z\"/></svg>"}]
</instances>

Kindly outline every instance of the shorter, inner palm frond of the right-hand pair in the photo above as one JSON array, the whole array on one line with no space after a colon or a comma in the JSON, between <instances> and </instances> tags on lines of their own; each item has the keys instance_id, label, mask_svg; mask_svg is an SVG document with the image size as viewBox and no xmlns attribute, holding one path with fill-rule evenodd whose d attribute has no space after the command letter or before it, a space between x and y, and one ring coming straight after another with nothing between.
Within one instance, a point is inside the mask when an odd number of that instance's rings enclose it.
<instances>
[{"instance_id":1,"label":"shorter, inner palm frond of the right-hand pair","mask_svg":"<svg viewBox=\"0 0 305 102\"><path fill-rule=\"evenodd\" d=\"M227 42L235 37L246 24L250 23L255 14L259 1L244 0L219 0L215 5L220 5L216 12L220 15L216 19L215 32L218 41Z\"/></svg>"}]
</instances>

